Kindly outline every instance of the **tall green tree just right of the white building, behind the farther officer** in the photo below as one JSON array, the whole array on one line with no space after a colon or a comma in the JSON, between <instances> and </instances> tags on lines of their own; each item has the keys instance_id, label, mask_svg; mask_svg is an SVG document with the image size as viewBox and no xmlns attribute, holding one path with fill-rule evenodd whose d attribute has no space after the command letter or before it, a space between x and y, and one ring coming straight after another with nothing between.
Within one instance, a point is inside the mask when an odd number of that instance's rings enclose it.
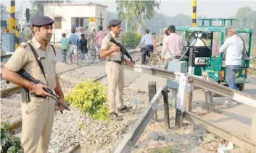
<instances>
[{"instance_id":1,"label":"tall green tree just right of the white building, behind the farther officer","mask_svg":"<svg viewBox=\"0 0 256 153\"><path fill-rule=\"evenodd\" d=\"M154 17L158 1L116 1L119 19L127 19L129 31L140 31L146 19Z\"/></svg>"}]
</instances>

